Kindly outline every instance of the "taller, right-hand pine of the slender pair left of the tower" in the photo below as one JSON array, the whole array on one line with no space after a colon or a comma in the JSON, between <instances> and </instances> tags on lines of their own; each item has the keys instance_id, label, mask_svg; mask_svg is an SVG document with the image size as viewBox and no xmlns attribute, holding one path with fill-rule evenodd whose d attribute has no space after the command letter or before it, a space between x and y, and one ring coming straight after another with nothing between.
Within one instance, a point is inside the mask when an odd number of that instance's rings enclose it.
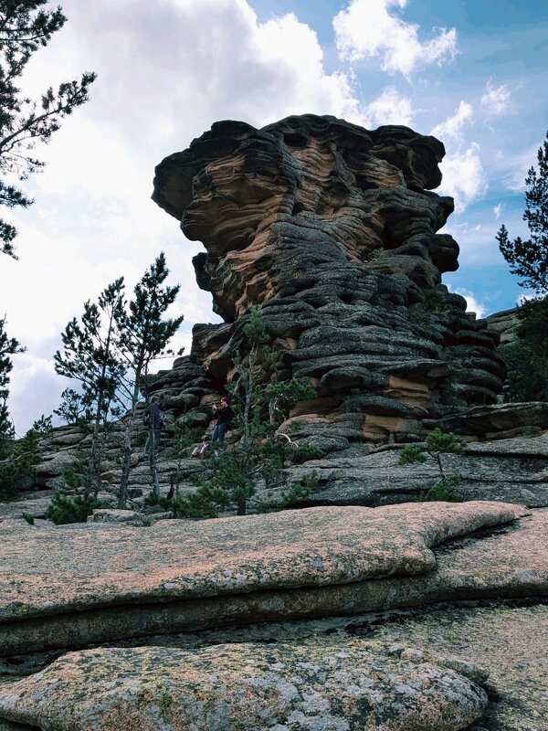
<instances>
[{"instance_id":1,"label":"taller, right-hand pine of the slender pair left of the tower","mask_svg":"<svg viewBox=\"0 0 548 731\"><path fill-rule=\"evenodd\" d=\"M122 390L128 403L129 414L125 419L124 446L121 462L119 507L124 508L128 498L128 484L133 450L133 429L142 391L145 408L150 408L147 376L153 360L163 357L169 341L183 322L183 316L163 319L174 303L179 286L163 286L169 274L163 253L157 257L133 291L133 299L124 313L119 313L121 359L126 369ZM151 426L152 428L152 426ZM153 450L150 452L153 483L158 491L158 477Z\"/></svg>"}]
</instances>

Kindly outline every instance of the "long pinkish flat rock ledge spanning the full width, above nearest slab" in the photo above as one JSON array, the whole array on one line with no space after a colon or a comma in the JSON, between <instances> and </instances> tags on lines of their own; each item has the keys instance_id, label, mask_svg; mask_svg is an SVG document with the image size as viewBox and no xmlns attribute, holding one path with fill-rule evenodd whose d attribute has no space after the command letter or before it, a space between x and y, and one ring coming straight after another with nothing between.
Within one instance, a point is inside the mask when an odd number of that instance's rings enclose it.
<instances>
[{"instance_id":1,"label":"long pinkish flat rock ledge spanning the full width, above nearest slab","mask_svg":"<svg viewBox=\"0 0 548 731\"><path fill-rule=\"evenodd\" d=\"M519 505L413 503L142 529L87 524L33 534L31 526L10 526L2 536L0 655L445 600L543 596L547 522L548 511L527 514ZM37 546L33 536L45 543Z\"/></svg>"}]
</instances>

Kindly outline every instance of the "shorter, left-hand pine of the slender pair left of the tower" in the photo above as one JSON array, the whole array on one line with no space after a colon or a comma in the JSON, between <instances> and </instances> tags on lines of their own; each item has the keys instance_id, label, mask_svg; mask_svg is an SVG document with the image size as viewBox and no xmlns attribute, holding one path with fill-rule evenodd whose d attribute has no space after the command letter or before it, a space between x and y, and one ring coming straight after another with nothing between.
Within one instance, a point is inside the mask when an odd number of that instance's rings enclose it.
<instances>
[{"instance_id":1,"label":"shorter, left-hand pine of the slender pair left of the tower","mask_svg":"<svg viewBox=\"0 0 548 731\"><path fill-rule=\"evenodd\" d=\"M118 356L118 323L124 308L123 278L101 292L98 303L84 303L80 321L73 318L61 334L64 350L54 355L59 376L74 378L82 390L81 406L91 425L91 455L85 494L97 495L104 431L118 414L117 392L124 374ZM66 392L64 392L66 394Z\"/></svg>"}]
</instances>

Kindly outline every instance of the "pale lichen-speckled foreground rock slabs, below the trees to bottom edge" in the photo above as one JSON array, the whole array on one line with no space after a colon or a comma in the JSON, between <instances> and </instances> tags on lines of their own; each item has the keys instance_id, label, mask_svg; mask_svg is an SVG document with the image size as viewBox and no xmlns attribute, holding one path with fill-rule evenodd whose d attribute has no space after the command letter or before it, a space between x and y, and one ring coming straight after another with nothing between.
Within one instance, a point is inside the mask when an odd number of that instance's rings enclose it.
<instances>
[{"instance_id":1,"label":"pale lichen-speckled foreground rock slabs, below the trees to bottom edge","mask_svg":"<svg viewBox=\"0 0 548 731\"><path fill-rule=\"evenodd\" d=\"M6 520L4 728L541 731L547 520L481 502ZM495 601L438 604L473 597Z\"/></svg>"}]
</instances>

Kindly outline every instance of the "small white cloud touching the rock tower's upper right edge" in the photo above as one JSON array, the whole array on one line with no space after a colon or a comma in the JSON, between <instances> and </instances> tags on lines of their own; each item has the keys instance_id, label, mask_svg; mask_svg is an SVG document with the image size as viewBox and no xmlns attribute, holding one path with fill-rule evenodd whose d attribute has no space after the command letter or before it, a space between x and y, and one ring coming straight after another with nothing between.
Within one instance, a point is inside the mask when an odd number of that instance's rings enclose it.
<instances>
[{"instance_id":1,"label":"small white cloud touching the rock tower's upper right edge","mask_svg":"<svg viewBox=\"0 0 548 731\"><path fill-rule=\"evenodd\" d=\"M447 155L439 168L443 179L437 192L453 196L458 213L485 194L487 180L479 158L478 144L472 143L464 153Z\"/></svg>"}]
</instances>

